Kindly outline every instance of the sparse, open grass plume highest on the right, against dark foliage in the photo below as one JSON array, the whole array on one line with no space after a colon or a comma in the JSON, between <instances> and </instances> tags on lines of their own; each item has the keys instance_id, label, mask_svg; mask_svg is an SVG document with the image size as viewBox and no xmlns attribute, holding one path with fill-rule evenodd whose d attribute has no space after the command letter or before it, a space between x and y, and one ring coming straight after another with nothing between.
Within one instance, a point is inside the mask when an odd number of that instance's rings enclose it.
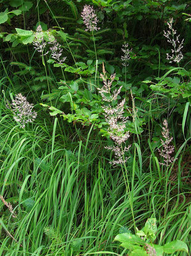
<instances>
[{"instance_id":1,"label":"sparse, open grass plume highest on the right, against dark foliage","mask_svg":"<svg viewBox=\"0 0 191 256\"><path fill-rule=\"evenodd\" d=\"M176 30L172 28L172 22L173 19L170 19L169 22L167 22L169 30L167 30L167 32L164 31L164 36L167 38L167 42L172 44L171 54L167 53L167 60L169 60L170 63L172 63L172 61L179 63L183 59L181 49L183 48L184 39L180 42L180 35L176 35Z\"/></svg>"}]
</instances>

